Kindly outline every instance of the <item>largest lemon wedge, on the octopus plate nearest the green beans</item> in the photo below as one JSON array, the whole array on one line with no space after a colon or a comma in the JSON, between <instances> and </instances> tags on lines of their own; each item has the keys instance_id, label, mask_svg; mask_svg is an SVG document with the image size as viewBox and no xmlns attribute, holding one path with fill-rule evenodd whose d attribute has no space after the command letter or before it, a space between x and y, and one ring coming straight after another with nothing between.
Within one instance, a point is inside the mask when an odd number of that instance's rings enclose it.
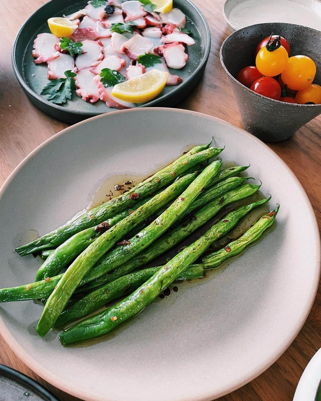
<instances>
[{"instance_id":1,"label":"largest lemon wedge, on the octopus plate nearest the green beans","mask_svg":"<svg viewBox=\"0 0 321 401\"><path fill-rule=\"evenodd\" d=\"M128 81L118 83L112 90L112 95L130 103L144 103L154 99L164 89L168 73L151 70Z\"/></svg>"}]
</instances>

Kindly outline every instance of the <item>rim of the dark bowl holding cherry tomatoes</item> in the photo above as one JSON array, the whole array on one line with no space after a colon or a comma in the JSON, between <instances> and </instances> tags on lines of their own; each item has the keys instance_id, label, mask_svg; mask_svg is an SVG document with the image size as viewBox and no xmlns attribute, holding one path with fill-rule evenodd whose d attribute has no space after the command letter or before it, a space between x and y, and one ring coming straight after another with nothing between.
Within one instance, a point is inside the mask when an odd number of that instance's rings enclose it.
<instances>
[{"instance_id":1,"label":"rim of the dark bowl holding cherry tomatoes","mask_svg":"<svg viewBox=\"0 0 321 401\"><path fill-rule=\"evenodd\" d=\"M223 62L223 47L226 45L226 41L234 34L237 34L240 30L244 30L246 28L252 27L252 26L262 26L262 25L267 25L267 24L282 24L282 25L291 25L291 26L299 26L300 28L304 28L304 29L308 29L308 30L314 30L315 32L317 32L320 36L320 40L321 40L321 31L310 28L309 26L304 26L304 25L297 25L297 24L288 24L286 22L264 22L262 24L253 24L253 25L249 25L249 26L244 26L244 28L240 28L238 30L235 30L234 32L232 32L222 43L221 48L219 49L219 60L221 61L221 65L223 67L223 69L225 70L226 74L233 79L234 82L236 82L238 85L240 85L243 89L246 89L246 91L254 93L254 95L259 96L263 99L268 99L272 102L276 102L278 104L286 104L289 107L321 107L321 103L319 104L299 104L299 103L287 103L284 101L280 101L280 100L275 100L275 99L271 99L270 97L264 96L264 95L260 95L260 93L256 93L254 91L252 91L250 88L246 87L245 85L243 85L242 83L240 83L235 77L233 77L233 75L230 73L230 71L228 71L228 69L226 68L226 65ZM321 67L321 66L320 66Z\"/></svg>"}]
</instances>

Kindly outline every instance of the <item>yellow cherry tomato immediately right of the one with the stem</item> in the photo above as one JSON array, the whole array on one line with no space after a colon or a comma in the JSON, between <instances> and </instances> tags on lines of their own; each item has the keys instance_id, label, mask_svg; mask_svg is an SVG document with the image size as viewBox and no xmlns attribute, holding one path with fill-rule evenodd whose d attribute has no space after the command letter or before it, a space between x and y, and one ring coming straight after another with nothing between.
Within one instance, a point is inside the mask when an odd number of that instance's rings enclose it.
<instances>
[{"instance_id":1,"label":"yellow cherry tomato immediately right of the one with the stem","mask_svg":"<svg viewBox=\"0 0 321 401\"><path fill-rule=\"evenodd\" d=\"M291 89L300 91L311 85L317 69L307 56L293 56L288 59L286 69L282 71L282 81Z\"/></svg>"}]
</instances>

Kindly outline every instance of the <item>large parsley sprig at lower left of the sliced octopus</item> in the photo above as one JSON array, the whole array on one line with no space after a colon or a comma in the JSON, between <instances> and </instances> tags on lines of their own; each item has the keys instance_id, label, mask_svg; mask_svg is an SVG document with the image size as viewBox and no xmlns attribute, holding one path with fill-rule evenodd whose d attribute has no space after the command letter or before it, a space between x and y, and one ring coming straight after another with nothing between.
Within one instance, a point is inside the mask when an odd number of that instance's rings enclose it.
<instances>
[{"instance_id":1,"label":"large parsley sprig at lower left of the sliced octopus","mask_svg":"<svg viewBox=\"0 0 321 401\"><path fill-rule=\"evenodd\" d=\"M66 78L51 79L40 94L49 95L48 100L53 103L66 103L67 99L71 99L72 91L76 89L75 81L73 80L76 75L71 70L65 71Z\"/></svg>"}]
</instances>

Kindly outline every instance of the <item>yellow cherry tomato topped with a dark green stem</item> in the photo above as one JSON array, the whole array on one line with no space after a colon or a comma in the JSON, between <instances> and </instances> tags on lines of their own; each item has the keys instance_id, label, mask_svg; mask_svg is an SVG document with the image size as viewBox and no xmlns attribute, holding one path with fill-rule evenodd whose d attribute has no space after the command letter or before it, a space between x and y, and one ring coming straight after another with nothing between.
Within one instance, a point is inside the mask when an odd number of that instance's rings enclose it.
<instances>
[{"instance_id":1,"label":"yellow cherry tomato topped with a dark green stem","mask_svg":"<svg viewBox=\"0 0 321 401\"><path fill-rule=\"evenodd\" d=\"M266 77L275 77L280 74L288 63L288 52L283 46L278 49L269 51L266 47L262 49L256 55L256 68L262 75Z\"/></svg>"}]
</instances>

